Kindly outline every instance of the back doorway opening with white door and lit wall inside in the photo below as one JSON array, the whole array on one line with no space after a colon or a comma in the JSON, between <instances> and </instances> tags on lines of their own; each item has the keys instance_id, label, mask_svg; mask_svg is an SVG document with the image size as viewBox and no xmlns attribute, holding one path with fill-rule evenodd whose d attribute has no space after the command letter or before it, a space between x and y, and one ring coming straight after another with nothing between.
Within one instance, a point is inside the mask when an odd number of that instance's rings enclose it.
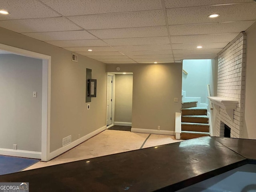
<instances>
[{"instance_id":1,"label":"back doorway opening with white door and lit wall inside","mask_svg":"<svg viewBox=\"0 0 256 192\"><path fill-rule=\"evenodd\" d=\"M109 72L107 78L107 129L130 131L133 73Z\"/></svg>"}]
</instances>

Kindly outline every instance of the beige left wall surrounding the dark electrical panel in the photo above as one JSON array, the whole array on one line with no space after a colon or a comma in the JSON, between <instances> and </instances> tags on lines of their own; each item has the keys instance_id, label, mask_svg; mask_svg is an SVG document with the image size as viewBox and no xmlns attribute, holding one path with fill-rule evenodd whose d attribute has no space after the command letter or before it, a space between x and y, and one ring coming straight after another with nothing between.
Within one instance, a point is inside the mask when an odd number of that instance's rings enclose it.
<instances>
[{"instance_id":1,"label":"beige left wall surrounding the dark electrical panel","mask_svg":"<svg viewBox=\"0 0 256 192\"><path fill-rule=\"evenodd\" d=\"M71 61L72 52L39 40L0 28L0 43L52 57L50 152L62 147L62 138L71 135L72 142L106 126L106 64L79 55ZM97 79L97 97L90 110L85 103L86 68Z\"/></svg>"}]
</instances>

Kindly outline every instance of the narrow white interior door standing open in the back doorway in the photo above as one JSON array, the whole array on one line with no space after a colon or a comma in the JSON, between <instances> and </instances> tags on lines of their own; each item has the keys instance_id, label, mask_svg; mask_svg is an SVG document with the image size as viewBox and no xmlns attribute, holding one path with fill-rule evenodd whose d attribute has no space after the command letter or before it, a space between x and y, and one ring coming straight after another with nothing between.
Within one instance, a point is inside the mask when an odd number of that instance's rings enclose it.
<instances>
[{"instance_id":1,"label":"narrow white interior door standing open in the back doorway","mask_svg":"<svg viewBox=\"0 0 256 192\"><path fill-rule=\"evenodd\" d=\"M112 82L113 76L108 75L107 83L107 126L112 123Z\"/></svg>"}]
</instances>

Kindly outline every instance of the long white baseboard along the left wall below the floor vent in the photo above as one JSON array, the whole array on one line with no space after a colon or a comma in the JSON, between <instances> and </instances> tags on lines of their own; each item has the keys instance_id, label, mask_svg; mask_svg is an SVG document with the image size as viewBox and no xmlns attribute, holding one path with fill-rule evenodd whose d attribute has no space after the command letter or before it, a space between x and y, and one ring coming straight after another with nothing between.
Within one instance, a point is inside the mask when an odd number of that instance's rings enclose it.
<instances>
[{"instance_id":1,"label":"long white baseboard along the left wall below the floor vent","mask_svg":"<svg viewBox=\"0 0 256 192\"><path fill-rule=\"evenodd\" d=\"M56 157L56 156L59 156L60 154L62 154L64 152L72 149L73 147L75 147L75 146L79 145L80 143L90 139L94 135L96 135L96 134L98 134L98 133L100 133L100 132L102 132L104 130L106 130L106 125L101 127L101 128L99 128L99 129L97 129L97 130L95 130L94 132L91 132L91 133L89 133L89 134L87 134L87 135L85 135L85 136L83 136L83 137L81 137L81 138L71 142L70 144L68 144L68 145L66 145L66 146L64 146L62 148L59 148L59 149L57 149L57 150L55 150L53 152L50 152L50 154L48 156L48 161L51 160L52 158Z\"/></svg>"}]
</instances>

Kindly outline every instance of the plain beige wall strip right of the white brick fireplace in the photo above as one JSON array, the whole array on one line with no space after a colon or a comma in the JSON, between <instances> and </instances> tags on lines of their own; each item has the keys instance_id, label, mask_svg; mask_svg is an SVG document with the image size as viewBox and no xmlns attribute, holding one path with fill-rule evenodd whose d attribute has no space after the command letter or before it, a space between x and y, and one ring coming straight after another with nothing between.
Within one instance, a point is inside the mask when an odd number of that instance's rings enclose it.
<instances>
[{"instance_id":1,"label":"plain beige wall strip right of the white brick fireplace","mask_svg":"<svg viewBox=\"0 0 256 192\"><path fill-rule=\"evenodd\" d=\"M243 138L256 139L256 24L246 33L246 91Z\"/></svg>"}]
</instances>

